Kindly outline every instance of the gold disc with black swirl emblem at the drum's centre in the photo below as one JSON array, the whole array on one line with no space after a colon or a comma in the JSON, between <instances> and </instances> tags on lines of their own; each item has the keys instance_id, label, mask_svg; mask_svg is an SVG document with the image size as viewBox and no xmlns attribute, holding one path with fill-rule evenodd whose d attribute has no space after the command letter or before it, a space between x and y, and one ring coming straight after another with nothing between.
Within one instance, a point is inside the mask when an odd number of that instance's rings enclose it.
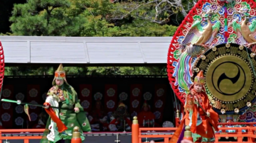
<instances>
[{"instance_id":1,"label":"gold disc with black swirl emblem at the drum's centre","mask_svg":"<svg viewBox=\"0 0 256 143\"><path fill-rule=\"evenodd\" d=\"M220 101L238 101L250 90L251 84L250 67L235 55L215 59L206 72L206 86Z\"/></svg>"}]
</instances>

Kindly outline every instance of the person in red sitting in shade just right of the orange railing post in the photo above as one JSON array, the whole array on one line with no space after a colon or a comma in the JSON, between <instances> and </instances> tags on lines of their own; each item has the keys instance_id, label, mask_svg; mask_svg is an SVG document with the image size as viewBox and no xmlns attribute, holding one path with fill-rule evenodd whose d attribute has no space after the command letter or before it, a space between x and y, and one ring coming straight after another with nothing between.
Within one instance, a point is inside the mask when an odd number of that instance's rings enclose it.
<instances>
[{"instance_id":1,"label":"person in red sitting in shade just right of the orange railing post","mask_svg":"<svg viewBox=\"0 0 256 143\"><path fill-rule=\"evenodd\" d=\"M142 106L142 112L140 112L138 115L139 127L144 127L143 122L145 120L154 120L154 119L155 119L154 113L150 111L149 105L146 103L146 101L144 101L144 104Z\"/></svg>"}]
</instances>

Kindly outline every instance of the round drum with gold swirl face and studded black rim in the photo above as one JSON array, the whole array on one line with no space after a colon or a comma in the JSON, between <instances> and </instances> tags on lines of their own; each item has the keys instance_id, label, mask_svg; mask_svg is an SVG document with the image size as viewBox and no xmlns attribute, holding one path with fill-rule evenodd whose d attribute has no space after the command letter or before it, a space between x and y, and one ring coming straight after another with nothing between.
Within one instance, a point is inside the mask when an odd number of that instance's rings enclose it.
<instances>
[{"instance_id":1,"label":"round drum with gold swirl face and studded black rim","mask_svg":"<svg viewBox=\"0 0 256 143\"><path fill-rule=\"evenodd\" d=\"M256 60L247 47L222 44L211 48L196 60L193 75L204 71L206 93L215 109L221 113L238 113L256 100L252 68L256 69Z\"/></svg>"}]
</instances>

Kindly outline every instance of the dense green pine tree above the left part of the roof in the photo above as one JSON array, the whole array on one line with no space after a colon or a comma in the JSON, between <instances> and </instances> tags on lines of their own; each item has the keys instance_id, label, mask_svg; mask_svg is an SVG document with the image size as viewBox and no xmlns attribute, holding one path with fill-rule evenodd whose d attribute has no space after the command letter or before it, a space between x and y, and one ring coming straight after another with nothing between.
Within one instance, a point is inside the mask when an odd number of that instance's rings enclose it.
<instances>
[{"instance_id":1,"label":"dense green pine tree above the left part of the roof","mask_svg":"<svg viewBox=\"0 0 256 143\"><path fill-rule=\"evenodd\" d=\"M79 36L85 17L72 7L68 0L28 0L26 4L14 4L11 31L15 35Z\"/></svg>"}]
</instances>

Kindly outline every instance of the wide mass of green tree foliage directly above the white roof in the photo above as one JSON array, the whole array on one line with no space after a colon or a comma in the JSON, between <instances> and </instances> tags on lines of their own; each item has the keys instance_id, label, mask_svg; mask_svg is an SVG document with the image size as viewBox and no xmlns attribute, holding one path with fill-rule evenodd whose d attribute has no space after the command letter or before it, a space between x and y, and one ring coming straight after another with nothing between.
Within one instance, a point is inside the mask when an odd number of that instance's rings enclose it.
<instances>
[{"instance_id":1,"label":"wide mass of green tree foliage directly above the white roof","mask_svg":"<svg viewBox=\"0 0 256 143\"><path fill-rule=\"evenodd\" d=\"M28 0L14 4L11 30L14 35L88 37L171 36L176 31L176 26L152 23L132 13L122 16L119 6L109 0Z\"/></svg>"}]
</instances>

